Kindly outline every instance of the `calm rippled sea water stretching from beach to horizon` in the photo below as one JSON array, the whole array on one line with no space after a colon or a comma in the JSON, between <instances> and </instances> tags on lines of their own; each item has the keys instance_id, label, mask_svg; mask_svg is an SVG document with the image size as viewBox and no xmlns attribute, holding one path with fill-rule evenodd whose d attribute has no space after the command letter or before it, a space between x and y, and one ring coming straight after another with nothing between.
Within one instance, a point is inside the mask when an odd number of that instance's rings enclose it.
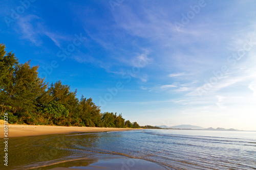
<instances>
[{"instance_id":1,"label":"calm rippled sea water stretching from beach to horizon","mask_svg":"<svg viewBox=\"0 0 256 170\"><path fill-rule=\"evenodd\" d=\"M8 153L5 169L81 167L111 160L122 160L116 169L133 169L146 161L162 169L256 169L256 132L135 130L46 135L10 139Z\"/></svg>"}]
</instances>

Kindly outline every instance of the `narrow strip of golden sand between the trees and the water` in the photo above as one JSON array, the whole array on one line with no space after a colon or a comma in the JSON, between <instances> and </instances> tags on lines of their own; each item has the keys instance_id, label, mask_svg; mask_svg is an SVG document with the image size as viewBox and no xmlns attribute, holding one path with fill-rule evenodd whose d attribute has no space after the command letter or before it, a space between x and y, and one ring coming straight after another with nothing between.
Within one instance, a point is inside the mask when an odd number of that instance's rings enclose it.
<instances>
[{"instance_id":1,"label":"narrow strip of golden sand between the trees and the water","mask_svg":"<svg viewBox=\"0 0 256 170\"><path fill-rule=\"evenodd\" d=\"M38 135L67 134L67 133L81 133L81 132L125 131L125 130L132 130L132 129L8 124L8 137L38 136ZM4 138L4 125L0 125L0 138Z\"/></svg>"}]
</instances>

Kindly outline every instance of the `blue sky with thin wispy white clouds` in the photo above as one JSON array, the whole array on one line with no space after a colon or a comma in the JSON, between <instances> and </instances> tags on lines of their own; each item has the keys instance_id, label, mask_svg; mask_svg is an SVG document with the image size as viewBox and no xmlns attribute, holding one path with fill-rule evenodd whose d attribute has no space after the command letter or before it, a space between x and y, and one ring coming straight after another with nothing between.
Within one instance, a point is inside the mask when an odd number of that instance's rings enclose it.
<instances>
[{"instance_id":1,"label":"blue sky with thin wispy white clouds","mask_svg":"<svg viewBox=\"0 0 256 170\"><path fill-rule=\"evenodd\" d=\"M256 131L255 1L2 0L0 43L101 112Z\"/></svg>"}]
</instances>

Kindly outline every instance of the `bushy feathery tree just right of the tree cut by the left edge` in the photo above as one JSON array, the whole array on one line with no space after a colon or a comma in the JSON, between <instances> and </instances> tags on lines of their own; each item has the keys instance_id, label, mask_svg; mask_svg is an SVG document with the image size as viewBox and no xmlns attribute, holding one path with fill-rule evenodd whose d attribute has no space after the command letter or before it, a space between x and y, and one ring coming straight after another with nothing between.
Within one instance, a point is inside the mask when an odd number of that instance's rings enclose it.
<instances>
[{"instance_id":1,"label":"bushy feathery tree just right of the tree cut by the left edge","mask_svg":"<svg viewBox=\"0 0 256 170\"><path fill-rule=\"evenodd\" d=\"M6 87L6 104L13 107L13 112L34 111L38 98L47 89L44 79L38 77L38 66L30 66L30 61L17 64L13 73L13 84Z\"/></svg>"}]
</instances>

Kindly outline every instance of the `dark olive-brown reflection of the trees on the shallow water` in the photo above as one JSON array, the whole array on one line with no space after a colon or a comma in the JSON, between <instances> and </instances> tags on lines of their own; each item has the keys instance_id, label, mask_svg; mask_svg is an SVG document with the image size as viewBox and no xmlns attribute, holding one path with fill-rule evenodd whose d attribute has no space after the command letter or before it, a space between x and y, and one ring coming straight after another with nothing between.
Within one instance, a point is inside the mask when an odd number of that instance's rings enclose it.
<instances>
[{"instance_id":1,"label":"dark olive-brown reflection of the trees on the shallow water","mask_svg":"<svg viewBox=\"0 0 256 170\"><path fill-rule=\"evenodd\" d=\"M44 135L19 137L9 139L8 166L1 169L27 169L61 162L63 160L79 159L90 155L77 154L86 148L97 148L100 133L85 135ZM3 148L3 141L0 148ZM82 150L83 149L83 150Z\"/></svg>"}]
</instances>

